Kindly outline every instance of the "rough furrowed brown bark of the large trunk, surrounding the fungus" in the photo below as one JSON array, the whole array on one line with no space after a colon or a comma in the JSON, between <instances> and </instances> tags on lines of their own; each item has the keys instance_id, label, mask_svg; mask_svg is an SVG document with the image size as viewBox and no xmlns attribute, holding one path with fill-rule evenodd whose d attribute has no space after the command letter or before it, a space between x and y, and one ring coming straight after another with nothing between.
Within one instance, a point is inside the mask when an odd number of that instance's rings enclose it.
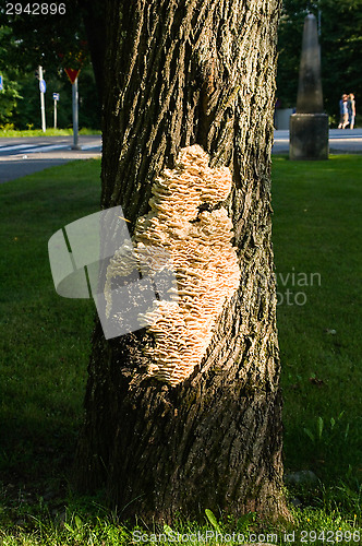
<instances>
[{"instance_id":1,"label":"rough furrowed brown bark of the large trunk, surrounding the fungus","mask_svg":"<svg viewBox=\"0 0 362 546\"><path fill-rule=\"evenodd\" d=\"M280 1L106 3L101 205L121 204L132 232L155 178L200 144L232 173L224 205L241 282L177 387L145 376L145 330L107 342L96 327L77 486L106 487L124 515L159 521L205 508L288 517L270 241Z\"/></svg>"}]
</instances>

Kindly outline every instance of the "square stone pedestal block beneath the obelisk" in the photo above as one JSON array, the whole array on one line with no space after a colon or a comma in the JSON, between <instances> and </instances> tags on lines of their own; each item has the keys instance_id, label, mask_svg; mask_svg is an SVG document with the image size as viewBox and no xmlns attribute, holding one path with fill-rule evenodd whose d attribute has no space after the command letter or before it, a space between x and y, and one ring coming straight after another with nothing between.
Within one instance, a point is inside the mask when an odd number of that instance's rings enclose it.
<instances>
[{"instance_id":1,"label":"square stone pedestal block beneath the obelisk","mask_svg":"<svg viewBox=\"0 0 362 546\"><path fill-rule=\"evenodd\" d=\"M328 159L327 114L290 116L290 159Z\"/></svg>"}]
</instances>

